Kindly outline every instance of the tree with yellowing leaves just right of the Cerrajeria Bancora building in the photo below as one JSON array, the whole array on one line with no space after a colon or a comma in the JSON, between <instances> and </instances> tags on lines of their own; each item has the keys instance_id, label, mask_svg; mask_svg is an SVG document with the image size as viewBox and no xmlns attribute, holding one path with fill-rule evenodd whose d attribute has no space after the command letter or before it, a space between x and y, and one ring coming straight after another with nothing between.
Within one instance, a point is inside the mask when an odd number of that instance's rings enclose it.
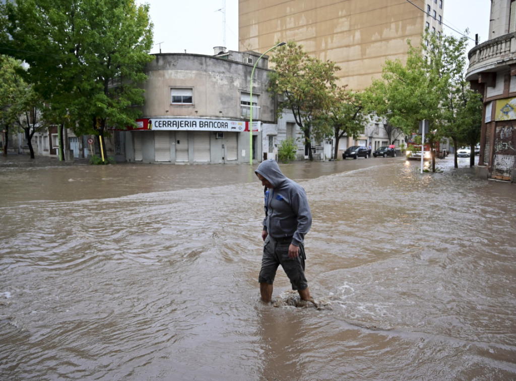
<instances>
[{"instance_id":1,"label":"tree with yellowing leaves just right of the Cerrajeria Bancora building","mask_svg":"<svg viewBox=\"0 0 516 381\"><path fill-rule=\"evenodd\" d=\"M318 122L331 106L330 91L335 87L339 67L331 61L310 57L293 41L280 46L270 61L275 71L269 74L269 91L274 97L280 96L278 116L284 109L292 111L313 160L311 139L314 134L325 134L320 129L326 126Z\"/></svg>"}]
</instances>

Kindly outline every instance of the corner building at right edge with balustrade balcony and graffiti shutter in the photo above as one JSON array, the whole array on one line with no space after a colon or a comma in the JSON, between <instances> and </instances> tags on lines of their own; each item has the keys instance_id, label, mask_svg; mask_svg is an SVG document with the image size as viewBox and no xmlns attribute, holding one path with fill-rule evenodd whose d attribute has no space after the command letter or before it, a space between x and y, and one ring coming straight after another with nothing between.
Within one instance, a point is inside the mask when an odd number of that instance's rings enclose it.
<instances>
[{"instance_id":1,"label":"corner building at right edge with balustrade balcony and graffiti shutter","mask_svg":"<svg viewBox=\"0 0 516 381\"><path fill-rule=\"evenodd\" d=\"M469 51L466 79L482 94L477 175L516 179L516 1L491 0L489 40Z\"/></svg>"}]
</instances>

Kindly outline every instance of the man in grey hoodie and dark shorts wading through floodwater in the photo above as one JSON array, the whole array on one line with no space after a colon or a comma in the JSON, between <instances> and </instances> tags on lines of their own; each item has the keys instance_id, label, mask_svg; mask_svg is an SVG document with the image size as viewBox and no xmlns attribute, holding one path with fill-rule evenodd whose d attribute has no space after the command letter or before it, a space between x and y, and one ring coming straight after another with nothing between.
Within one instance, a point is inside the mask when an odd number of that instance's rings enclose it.
<instances>
[{"instance_id":1,"label":"man in grey hoodie and dark shorts wading through floodwater","mask_svg":"<svg viewBox=\"0 0 516 381\"><path fill-rule=\"evenodd\" d=\"M278 266L299 292L302 300L312 301L304 277L304 235L312 225L312 213L304 189L282 174L275 160L265 160L255 170L265 189L262 269L258 281L264 302L272 298L272 283Z\"/></svg>"}]
</instances>

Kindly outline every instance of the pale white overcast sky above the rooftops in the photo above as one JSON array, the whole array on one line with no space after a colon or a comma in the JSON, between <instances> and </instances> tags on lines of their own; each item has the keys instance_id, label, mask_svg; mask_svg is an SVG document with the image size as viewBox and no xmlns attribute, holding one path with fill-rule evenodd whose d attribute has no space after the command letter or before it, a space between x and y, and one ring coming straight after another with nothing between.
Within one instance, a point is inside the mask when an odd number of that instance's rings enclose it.
<instances>
[{"instance_id":1,"label":"pale white overcast sky above the rooftops","mask_svg":"<svg viewBox=\"0 0 516 381\"><path fill-rule=\"evenodd\" d=\"M223 0L137 0L149 3L154 23L151 53L195 53L213 55L214 46L224 46ZM489 34L490 0L444 0L443 23L484 42ZM456 32L443 26L445 34ZM470 40L470 48L475 43ZM162 43L159 45L159 43ZM238 47L238 0L225 0L225 47Z\"/></svg>"}]
</instances>

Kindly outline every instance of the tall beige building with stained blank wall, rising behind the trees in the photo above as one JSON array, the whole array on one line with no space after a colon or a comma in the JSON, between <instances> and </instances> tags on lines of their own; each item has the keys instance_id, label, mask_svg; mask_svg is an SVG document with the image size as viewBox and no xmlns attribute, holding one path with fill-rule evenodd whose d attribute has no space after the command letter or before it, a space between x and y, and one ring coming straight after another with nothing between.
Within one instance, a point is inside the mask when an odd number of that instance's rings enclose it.
<instances>
[{"instance_id":1,"label":"tall beige building with stained blank wall, rising behind the trees","mask_svg":"<svg viewBox=\"0 0 516 381\"><path fill-rule=\"evenodd\" d=\"M444 0L239 0L238 37L243 49L264 52L295 41L321 60L336 62L348 89L363 90L379 78L387 58L407 58L426 28L441 33Z\"/></svg>"}]
</instances>

